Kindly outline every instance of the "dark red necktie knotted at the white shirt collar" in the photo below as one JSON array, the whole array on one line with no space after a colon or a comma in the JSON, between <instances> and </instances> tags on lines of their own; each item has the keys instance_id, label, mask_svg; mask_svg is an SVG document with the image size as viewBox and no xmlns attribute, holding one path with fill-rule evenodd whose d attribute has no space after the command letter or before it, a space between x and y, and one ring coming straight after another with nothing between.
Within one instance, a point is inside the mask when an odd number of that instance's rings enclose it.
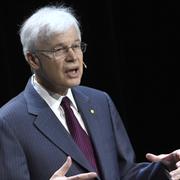
<instances>
[{"instance_id":1,"label":"dark red necktie knotted at the white shirt collar","mask_svg":"<svg viewBox=\"0 0 180 180\"><path fill-rule=\"evenodd\" d=\"M70 134L72 135L74 141L79 146L81 151L84 153L85 157L89 160L92 167L97 170L96 160L94 156L93 146L91 144L90 137L80 126L76 116L74 115L71 107L70 107L70 99L68 97L64 97L61 102L61 106L64 109L66 123Z\"/></svg>"}]
</instances>

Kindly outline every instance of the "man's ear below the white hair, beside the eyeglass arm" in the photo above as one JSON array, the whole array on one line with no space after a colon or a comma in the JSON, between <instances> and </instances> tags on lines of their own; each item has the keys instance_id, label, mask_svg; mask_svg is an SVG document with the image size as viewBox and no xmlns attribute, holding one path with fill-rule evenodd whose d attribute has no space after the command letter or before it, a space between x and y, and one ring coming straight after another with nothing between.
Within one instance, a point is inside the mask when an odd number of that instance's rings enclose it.
<instances>
[{"instance_id":1,"label":"man's ear below the white hair, beside the eyeglass arm","mask_svg":"<svg viewBox=\"0 0 180 180\"><path fill-rule=\"evenodd\" d=\"M34 54L27 52L26 61L30 65L31 69L39 69L39 59Z\"/></svg>"}]
</instances>

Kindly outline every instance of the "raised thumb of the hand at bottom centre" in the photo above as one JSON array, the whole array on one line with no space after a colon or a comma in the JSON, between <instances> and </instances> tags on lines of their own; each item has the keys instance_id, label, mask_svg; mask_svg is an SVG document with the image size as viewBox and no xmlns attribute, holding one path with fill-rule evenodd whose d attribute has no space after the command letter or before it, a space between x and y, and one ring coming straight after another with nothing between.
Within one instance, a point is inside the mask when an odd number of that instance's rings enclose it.
<instances>
[{"instance_id":1,"label":"raised thumb of the hand at bottom centre","mask_svg":"<svg viewBox=\"0 0 180 180\"><path fill-rule=\"evenodd\" d=\"M71 157L67 157L66 162L54 173L53 177L65 176L72 165Z\"/></svg>"}]
</instances>

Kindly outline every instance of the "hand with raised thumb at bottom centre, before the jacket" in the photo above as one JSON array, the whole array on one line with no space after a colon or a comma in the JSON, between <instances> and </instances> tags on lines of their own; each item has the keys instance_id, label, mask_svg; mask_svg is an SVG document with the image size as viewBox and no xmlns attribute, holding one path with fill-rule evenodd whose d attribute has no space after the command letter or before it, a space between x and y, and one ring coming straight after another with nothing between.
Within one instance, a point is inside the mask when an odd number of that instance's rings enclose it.
<instances>
[{"instance_id":1,"label":"hand with raised thumb at bottom centre, before the jacket","mask_svg":"<svg viewBox=\"0 0 180 180\"><path fill-rule=\"evenodd\" d=\"M72 165L72 160L67 157L66 162L53 174L50 180L92 180L97 177L95 172L77 174L75 176L66 177L66 173Z\"/></svg>"}]
</instances>

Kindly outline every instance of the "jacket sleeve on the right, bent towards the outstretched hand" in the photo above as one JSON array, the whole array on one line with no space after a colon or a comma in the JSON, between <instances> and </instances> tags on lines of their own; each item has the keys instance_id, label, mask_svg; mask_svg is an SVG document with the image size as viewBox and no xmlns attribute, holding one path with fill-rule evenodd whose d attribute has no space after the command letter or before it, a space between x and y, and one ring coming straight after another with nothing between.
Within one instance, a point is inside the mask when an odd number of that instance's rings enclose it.
<instances>
[{"instance_id":1,"label":"jacket sleeve on the right, bent towards the outstretched hand","mask_svg":"<svg viewBox=\"0 0 180 180\"><path fill-rule=\"evenodd\" d=\"M106 94L107 95L107 94ZM109 95L107 95L114 137L118 149L119 171L122 180L169 180L165 166L158 163L136 163L135 154L123 121Z\"/></svg>"}]
</instances>

